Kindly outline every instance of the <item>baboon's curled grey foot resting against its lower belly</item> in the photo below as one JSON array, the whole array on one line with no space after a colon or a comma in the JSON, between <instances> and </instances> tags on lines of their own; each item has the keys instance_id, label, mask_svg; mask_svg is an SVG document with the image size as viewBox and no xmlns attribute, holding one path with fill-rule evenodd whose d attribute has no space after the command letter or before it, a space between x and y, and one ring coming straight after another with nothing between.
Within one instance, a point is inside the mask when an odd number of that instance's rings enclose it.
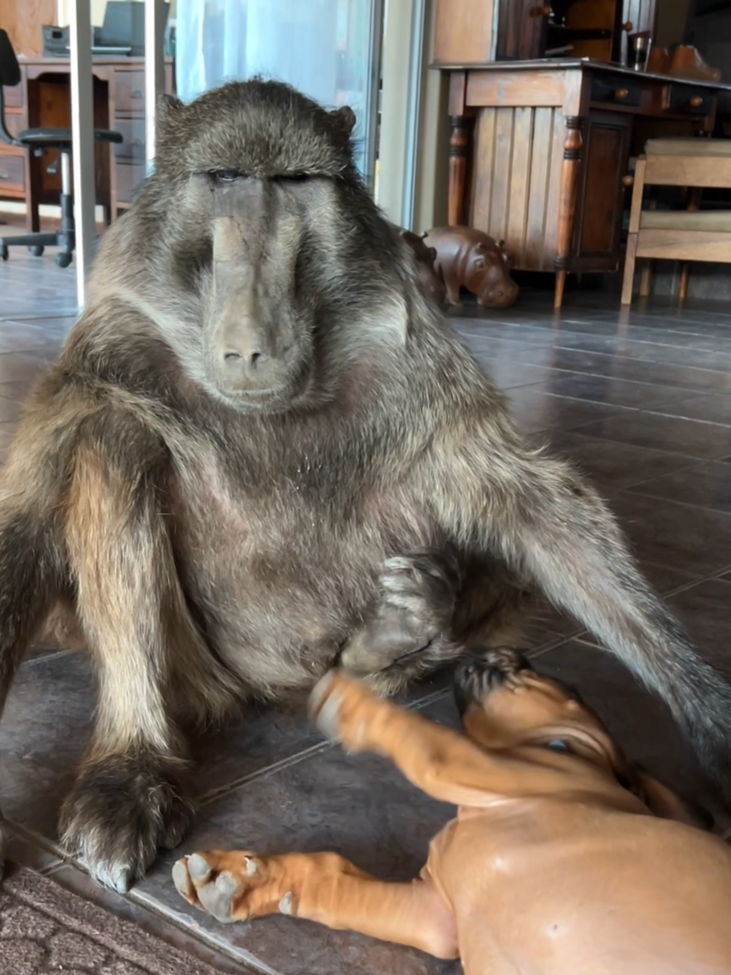
<instances>
[{"instance_id":1,"label":"baboon's curled grey foot resting against its lower belly","mask_svg":"<svg viewBox=\"0 0 731 975\"><path fill-rule=\"evenodd\" d=\"M339 664L378 693L394 693L457 647L449 639L460 576L448 553L424 550L389 559L360 629Z\"/></svg>"}]
</instances>

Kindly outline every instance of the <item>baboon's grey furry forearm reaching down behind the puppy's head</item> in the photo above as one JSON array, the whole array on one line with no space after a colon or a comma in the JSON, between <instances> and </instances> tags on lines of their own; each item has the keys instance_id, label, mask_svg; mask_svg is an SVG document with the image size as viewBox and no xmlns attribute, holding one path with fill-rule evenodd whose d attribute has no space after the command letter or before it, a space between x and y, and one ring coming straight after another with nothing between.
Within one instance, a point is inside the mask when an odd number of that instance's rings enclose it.
<instances>
[{"instance_id":1,"label":"baboon's grey furry forearm reaching down behind the puppy's head","mask_svg":"<svg viewBox=\"0 0 731 975\"><path fill-rule=\"evenodd\" d=\"M508 561L668 703L731 803L731 685L638 571L595 490L558 460L532 458L523 473L510 527L495 539Z\"/></svg>"}]
</instances>

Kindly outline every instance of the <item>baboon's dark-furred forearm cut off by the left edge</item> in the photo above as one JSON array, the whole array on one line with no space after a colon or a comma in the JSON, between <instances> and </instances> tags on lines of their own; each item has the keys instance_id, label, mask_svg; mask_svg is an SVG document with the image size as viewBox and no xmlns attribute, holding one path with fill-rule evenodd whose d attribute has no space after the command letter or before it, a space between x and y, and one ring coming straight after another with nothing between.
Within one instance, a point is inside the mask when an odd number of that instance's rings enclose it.
<instances>
[{"instance_id":1,"label":"baboon's dark-furred forearm cut off by the left edge","mask_svg":"<svg viewBox=\"0 0 731 975\"><path fill-rule=\"evenodd\" d=\"M20 661L58 590L58 564L40 513L0 502L0 716ZM0 878L3 824L0 813Z\"/></svg>"}]
</instances>

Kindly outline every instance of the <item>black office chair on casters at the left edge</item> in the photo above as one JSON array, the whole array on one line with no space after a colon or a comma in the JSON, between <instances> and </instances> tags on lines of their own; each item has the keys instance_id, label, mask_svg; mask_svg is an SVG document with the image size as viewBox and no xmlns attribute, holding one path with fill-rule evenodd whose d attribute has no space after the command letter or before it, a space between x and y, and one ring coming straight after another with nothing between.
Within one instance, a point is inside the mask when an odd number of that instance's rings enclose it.
<instances>
[{"instance_id":1,"label":"black office chair on casters at the left edge","mask_svg":"<svg viewBox=\"0 0 731 975\"><path fill-rule=\"evenodd\" d=\"M11 136L5 121L5 101L3 86L10 88L20 84L20 67L8 34L0 30L0 139L10 145L32 150L33 155L43 156L47 149L58 149L61 172L61 218L58 233L23 234L19 237L0 237L0 258L8 259L8 248L25 245L31 254L40 257L43 249L58 246L55 257L58 267L68 267L76 247L73 196L71 194L71 130L70 129L25 129L18 136ZM95 129L94 136L99 142L121 142L122 135L108 129Z\"/></svg>"}]
</instances>

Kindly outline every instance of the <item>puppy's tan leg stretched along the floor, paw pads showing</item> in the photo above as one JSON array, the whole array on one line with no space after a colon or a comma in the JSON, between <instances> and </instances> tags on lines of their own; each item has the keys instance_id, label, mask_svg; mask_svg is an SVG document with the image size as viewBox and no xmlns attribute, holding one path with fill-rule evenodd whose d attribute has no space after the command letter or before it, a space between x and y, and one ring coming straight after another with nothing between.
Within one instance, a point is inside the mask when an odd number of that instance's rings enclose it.
<instances>
[{"instance_id":1,"label":"puppy's tan leg stretched along the floor, paw pads showing","mask_svg":"<svg viewBox=\"0 0 731 975\"><path fill-rule=\"evenodd\" d=\"M193 853L173 867L178 892L223 923L285 914L456 958L454 917L430 878L384 883L336 853Z\"/></svg>"}]
</instances>

